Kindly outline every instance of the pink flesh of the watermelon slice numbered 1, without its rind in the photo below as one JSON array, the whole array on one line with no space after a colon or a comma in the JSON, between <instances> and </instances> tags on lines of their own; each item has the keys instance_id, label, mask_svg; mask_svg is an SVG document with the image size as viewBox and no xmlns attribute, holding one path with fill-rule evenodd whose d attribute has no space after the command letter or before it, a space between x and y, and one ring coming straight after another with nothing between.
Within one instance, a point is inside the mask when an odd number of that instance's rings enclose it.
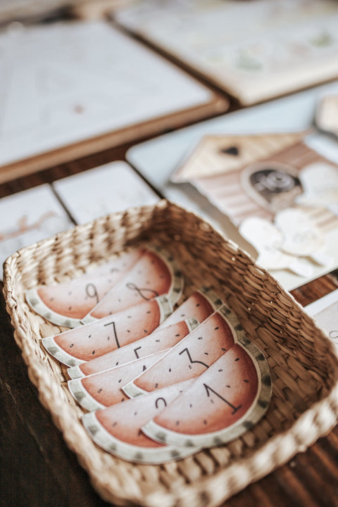
<instances>
[{"instance_id":1,"label":"pink flesh of the watermelon slice numbered 1, without its rind","mask_svg":"<svg viewBox=\"0 0 338 507\"><path fill-rule=\"evenodd\" d=\"M258 392L258 376L248 353L239 345L213 363L154 422L184 434L206 434L241 419Z\"/></svg>"}]
</instances>

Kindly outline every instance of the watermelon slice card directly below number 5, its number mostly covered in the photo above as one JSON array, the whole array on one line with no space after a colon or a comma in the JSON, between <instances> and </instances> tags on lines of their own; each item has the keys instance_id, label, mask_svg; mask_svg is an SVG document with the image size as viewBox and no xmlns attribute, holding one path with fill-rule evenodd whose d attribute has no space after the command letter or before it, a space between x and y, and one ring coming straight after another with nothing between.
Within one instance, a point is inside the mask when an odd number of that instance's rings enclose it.
<instances>
[{"instance_id":1,"label":"watermelon slice card directly below number 5, its number mostly covered","mask_svg":"<svg viewBox=\"0 0 338 507\"><path fill-rule=\"evenodd\" d=\"M68 389L82 408L92 412L127 399L121 387L160 359L165 351L135 359L131 363L68 381Z\"/></svg>"}]
</instances>

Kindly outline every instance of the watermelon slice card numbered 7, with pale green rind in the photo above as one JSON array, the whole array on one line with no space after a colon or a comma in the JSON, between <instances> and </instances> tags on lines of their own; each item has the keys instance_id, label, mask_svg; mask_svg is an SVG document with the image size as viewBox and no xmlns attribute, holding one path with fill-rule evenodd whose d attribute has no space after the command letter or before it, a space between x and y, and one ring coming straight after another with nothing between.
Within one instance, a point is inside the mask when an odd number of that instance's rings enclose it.
<instances>
[{"instance_id":1,"label":"watermelon slice card numbered 7, with pale green rind","mask_svg":"<svg viewBox=\"0 0 338 507\"><path fill-rule=\"evenodd\" d=\"M172 311L168 298L158 296L91 324L46 337L42 344L61 363L79 365L151 334Z\"/></svg>"}]
</instances>

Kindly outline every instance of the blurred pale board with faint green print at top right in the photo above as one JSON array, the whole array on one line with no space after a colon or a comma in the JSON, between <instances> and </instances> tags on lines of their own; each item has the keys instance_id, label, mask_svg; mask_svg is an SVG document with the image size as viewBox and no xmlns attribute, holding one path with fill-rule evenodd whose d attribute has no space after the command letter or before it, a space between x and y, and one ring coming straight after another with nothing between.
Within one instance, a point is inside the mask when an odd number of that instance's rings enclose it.
<instances>
[{"instance_id":1,"label":"blurred pale board with faint green print at top right","mask_svg":"<svg viewBox=\"0 0 338 507\"><path fill-rule=\"evenodd\" d=\"M334 0L148 0L116 19L242 104L338 75Z\"/></svg>"}]
</instances>

